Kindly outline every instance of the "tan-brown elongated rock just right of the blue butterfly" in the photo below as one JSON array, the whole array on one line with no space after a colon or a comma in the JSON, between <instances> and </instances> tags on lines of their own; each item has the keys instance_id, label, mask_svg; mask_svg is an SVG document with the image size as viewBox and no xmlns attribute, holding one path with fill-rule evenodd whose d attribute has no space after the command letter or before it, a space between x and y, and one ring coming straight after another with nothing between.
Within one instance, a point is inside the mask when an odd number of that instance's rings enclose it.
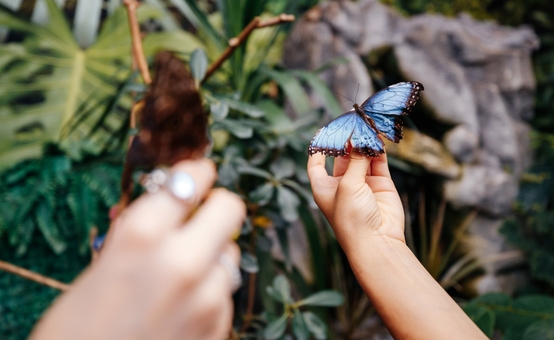
<instances>
[{"instance_id":1,"label":"tan-brown elongated rock just right of the blue butterfly","mask_svg":"<svg viewBox=\"0 0 554 340\"><path fill-rule=\"evenodd\" d=\"M460 166L442 144L420 132L404 128L404 139L398 144L385 140L387 153L423 167L446 178L460 175Z\"/></svg>"}]
</instances>

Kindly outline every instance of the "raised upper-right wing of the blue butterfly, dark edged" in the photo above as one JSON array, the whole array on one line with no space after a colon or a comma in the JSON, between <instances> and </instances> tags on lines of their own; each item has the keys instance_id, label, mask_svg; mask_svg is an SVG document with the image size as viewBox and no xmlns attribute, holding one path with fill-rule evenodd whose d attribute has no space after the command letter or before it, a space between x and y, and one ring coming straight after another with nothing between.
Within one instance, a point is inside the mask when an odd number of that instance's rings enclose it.
<instances>
[{"instance_id":1,"label":"raised upper-right wing of the blue butterfly, dark edged","mask_svg":"<svg viewBox=\"0 0 554 340\"><path fill-rule=\"evenodd\" d=\"M423 85L416 81L394 84L369 97L360 108L373 119L381 134L398 143L402 139L399 116L412 111L421 91Z\"/></svg>"}]
</instances>

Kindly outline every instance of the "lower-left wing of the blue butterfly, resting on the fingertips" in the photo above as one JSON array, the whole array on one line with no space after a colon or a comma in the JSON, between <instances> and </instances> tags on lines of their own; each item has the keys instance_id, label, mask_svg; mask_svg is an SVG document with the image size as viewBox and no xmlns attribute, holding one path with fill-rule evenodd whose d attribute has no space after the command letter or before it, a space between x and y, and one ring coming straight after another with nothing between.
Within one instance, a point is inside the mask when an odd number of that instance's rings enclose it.
<instances>
[{"instance_id":1,"label":"lower-left wing of the blue butterfly, resting on the fingertips","mask_svg":"<svg viewBox=\"0 0 554 340\"><path fill-rule=\"evenodd\" d=\"M383 142L355 111L349 111L335 118L319 129L310 142L308 153L321 152L327 156L345 156L349 152L348 142L352 148L366 156L377 156L383 153Z\"/></svg>"}]
</instances>

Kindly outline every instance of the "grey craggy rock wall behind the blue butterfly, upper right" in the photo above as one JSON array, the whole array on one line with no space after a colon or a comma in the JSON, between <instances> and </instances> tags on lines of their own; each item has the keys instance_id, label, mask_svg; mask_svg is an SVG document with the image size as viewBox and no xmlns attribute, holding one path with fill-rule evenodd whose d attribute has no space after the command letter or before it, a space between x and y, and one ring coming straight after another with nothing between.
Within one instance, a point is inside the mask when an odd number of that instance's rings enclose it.
<instances>
[{"instance_id":1,"label":"grey craggy rock wall behind the blue butterfly, upper right","mask_svg":"<svg viewBox=\"0 0 554 340\"><path fill-rule=\"evenodd\" d=\"M425 136L427 145L436 145L419 149L430 153L405 156L418 150L423 137L402 141L388 152L448 178L444 195L453 206L479 209L480 217L470 232L482 242L472 251L487 261L491 255L487 249L509 248L498 226L509 213L519 179L531 162L528 120L533 117L535 89L531 53L538 44L527 27L507 28L467 15L405 18L377 0L331 1L298 21L287 39L284 63L315 70L337 57L345 58L347 63L329 68L323 79L335 93L345 95L356 93L359 84L359 93L365 96L373 88L363 58L392 50L401 78L425 86L419 105L437 123L451 128L441 141ZM345 111L350 109L348 100L339 100ZM315 96L313 101L317 103ZM441 167L443 171L437 170ZM477 290L513 290L491 277L514 261L485 266L486 279L477 282Z\"/></svg>"}]
</instances>

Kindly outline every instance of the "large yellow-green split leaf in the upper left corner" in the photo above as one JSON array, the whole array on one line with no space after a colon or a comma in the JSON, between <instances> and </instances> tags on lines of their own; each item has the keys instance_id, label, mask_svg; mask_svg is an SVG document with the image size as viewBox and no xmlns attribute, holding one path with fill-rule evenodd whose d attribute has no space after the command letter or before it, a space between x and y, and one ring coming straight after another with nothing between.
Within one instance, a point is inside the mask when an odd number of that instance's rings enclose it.
<instances>
[{"instance_id":1,"label":"large yellow-green split leaf in the upper left corner","mask_svg":"<svg viewBox=\"0 0 554 340\"><path fill-rule=\"evenodd\" d=\"M95 43L83 50L54 0L46 6L48 20L41 26L0 5L0 26L22 35L22 41L0 45L0 167L39 156L45 142L58 142L80 160L117 150L125 136L131 98L121 87L130 74L131 39L124 8L104 21ZM141 22L157 16L147 6L138 11ZM184 31L162 37L145 39L148 55L178 39L174 49L181 53L199 46Z\"/></svg>"}]
</instances>

